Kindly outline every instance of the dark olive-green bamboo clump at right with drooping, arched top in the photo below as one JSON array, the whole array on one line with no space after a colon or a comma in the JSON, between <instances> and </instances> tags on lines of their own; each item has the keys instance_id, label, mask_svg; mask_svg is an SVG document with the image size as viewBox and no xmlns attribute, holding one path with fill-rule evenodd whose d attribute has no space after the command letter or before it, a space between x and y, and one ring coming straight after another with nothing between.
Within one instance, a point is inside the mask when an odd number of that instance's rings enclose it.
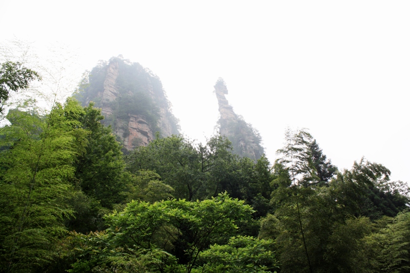
<instances>
[{"instance_id":1,"label":"dark olive-green bamboo clump at right with drooping, arched top","mask_svg":"<svg viewBox=\"0 0 410 273\"><path fill-rule=\"evenodd\" d=\"M362 201L369 186L388 178L388 170L362 159L327 184L309 186L295 185L288 170L275 165L276 210L262 220L260 232L276 239L281 271L363 272L363 238L373 226L362 217Z\"/></svg>"}]
</instances>

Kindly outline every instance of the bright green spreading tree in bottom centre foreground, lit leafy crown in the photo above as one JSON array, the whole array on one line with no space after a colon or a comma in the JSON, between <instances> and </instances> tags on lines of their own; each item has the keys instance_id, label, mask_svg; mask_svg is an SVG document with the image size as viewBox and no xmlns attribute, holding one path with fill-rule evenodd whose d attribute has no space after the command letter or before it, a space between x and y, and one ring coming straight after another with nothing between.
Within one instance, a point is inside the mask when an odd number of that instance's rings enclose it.
<instances>
[{"instance_id":1,"label":"bright green spreading tree in bottom centre foreground, lit leafy crown","mask_svg":"<svg viewBox=\"0 0 410 273\"><path fill-rule=\"evenodd\" d=\"M191 272L201 251L226 242L251 213L249 205L226 194L196 202L131 201L106 217L106 233L74 234L79 245L70 272ZM181 245L185 251L178 253Z\"/></svg>"}]
</instances>

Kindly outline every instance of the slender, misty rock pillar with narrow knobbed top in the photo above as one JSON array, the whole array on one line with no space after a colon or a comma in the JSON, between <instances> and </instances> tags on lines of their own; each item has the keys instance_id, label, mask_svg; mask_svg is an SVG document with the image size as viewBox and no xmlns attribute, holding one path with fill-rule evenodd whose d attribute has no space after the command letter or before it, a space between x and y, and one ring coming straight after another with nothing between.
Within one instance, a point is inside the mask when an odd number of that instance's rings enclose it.
<instances>
[{"instance_id":1,"label":"slender, misty rock pillar with narrow knobbed top","mask_svg":"<svg viewBox=\"0 0 410 273\"><path fill-rule=\"evenodd\" d=\"M235 154L259 159L264 154L259 133L241 116L235 114L225 97L228 89L223 79L219 78L214 88L219 106L219 133L232 142Z\"/></svg>"}]
</instances>

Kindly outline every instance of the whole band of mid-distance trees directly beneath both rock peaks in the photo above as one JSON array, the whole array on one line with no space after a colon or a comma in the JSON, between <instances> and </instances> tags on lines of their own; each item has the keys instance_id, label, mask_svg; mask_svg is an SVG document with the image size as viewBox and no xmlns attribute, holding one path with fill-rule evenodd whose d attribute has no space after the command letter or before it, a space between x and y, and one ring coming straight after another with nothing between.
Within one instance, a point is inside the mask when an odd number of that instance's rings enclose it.
<instances>
[{"instance_id":1,"label":"whole band of mid-distance trees directly beneath both rock peaks","mask_svg":"<svg viewBox=\"0 0 410 273\"><path fill-rule=\"evenodd\" d=\"M128 170L156 172L170 185L176 198L216 197L227 191L233 198L249 204L260 194L255 205L265 215L269 210L269 161L262 156L256 163L231 152L232 144L224 137L211 137L206 145L195 144L180 136L157 138L147 147L138 147L127 157Z\"/></svg>"}]
</instances>

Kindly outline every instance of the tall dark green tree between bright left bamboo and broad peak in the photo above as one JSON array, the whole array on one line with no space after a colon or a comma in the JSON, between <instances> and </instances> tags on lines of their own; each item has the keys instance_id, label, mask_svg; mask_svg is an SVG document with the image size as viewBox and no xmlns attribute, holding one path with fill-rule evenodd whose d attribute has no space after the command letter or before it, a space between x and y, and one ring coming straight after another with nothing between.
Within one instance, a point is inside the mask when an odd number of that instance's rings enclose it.
<instances>
[{"instance_id":1,"label":"tall dark green tree between bright left bamboo and broad peak","mask_svg":"<svg viewBox=\"0 0 410 273\"><path fill-rule=\"evenodd\" d=\"M74 176L70 179L77 192L66 198L75 213L66 220L66 226L81 233L101 230L105 228L103 216L114 204L122 202L121 193L126 181L131 180L131 175L124 171L121 145L111 129L101 124L104 117L93 103L81 107L70 97L61 111L73 130L81 132L73 144L77 153L72 163Z\"/></svg>"}]
</instances>

